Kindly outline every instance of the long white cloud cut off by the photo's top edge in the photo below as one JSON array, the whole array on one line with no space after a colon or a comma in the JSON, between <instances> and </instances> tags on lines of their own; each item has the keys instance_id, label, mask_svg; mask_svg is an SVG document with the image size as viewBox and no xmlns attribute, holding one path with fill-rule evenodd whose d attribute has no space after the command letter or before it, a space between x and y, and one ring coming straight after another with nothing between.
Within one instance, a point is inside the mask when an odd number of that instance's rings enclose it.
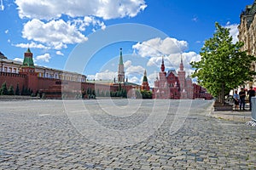
<instances>
[{"instance_id":1,"label":"long white cloud cut off by the photo's top edge","mask_svg":"<svg viewBox=\"0 0 256 170\"><path fill-rule=\"evenodd\" d=\"M134 17L147 7L144 0L15 0L20 18L52 20L61 14L69 17L96 16L104 20Z\"/></svg>"}]
</instances>

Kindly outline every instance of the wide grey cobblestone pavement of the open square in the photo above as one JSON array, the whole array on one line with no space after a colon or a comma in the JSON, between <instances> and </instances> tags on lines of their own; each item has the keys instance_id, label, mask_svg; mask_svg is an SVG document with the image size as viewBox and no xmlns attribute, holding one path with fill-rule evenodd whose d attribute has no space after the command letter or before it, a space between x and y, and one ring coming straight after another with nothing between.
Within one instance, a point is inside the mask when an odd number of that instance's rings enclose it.
<instances>
[{"instance_id":1,"label":"wide grey cobblestone pavement of the open square","mask_svg":"<svg viewBox=\"0 0 256 170\"><path fill-rule=\"evenodd\" d=\"M118 115L115 107L109 113L112 106L106 101L101 105L96 100L82 101L86 113L81 101L65 101L65 105L61 100L0 102L0 169L256 168L256 127L207 116L212 101L190 101L191 107L185 103L187 114L175 100L159 100L158 105L155 100L133 100L131 104L141 102L134 111L135 107L125 108L129 101L115 100L114 105L134 113L129 116ZM167 112L166 101L170 101ZM153 119L147 122L152 112ZM114 143L118 136L110 138L94 131L93 125L86 127L88 115L106 132L111 129L123 135L124 131L126 137L132 128L145 134L139 125L147 122L148 137L134 133L133 144ZM86 128L81 126L84 121Z\"/></svg>"}]
</instances>

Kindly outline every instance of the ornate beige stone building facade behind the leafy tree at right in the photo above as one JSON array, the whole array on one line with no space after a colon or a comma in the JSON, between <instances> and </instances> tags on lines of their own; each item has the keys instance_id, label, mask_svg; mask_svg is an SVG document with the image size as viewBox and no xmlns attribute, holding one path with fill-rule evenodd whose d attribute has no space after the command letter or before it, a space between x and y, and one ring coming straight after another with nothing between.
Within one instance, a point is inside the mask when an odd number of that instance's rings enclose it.
<instances>
[{"instance_id":1,"label":"ornate beige stone building facade behind the leafy tree at right","mask_svg":"<svg viewBox=\"0 0 256 170\"><path fill-rule=\"evenodd\" d=\"M240 25L238 26L240 42L244 42L244 46L241 48L243 51L247 51L247 54L256 56L256 1L252 5L247 5L245 10L240 14ZM252 63L253 71L256 71L256 63ZM247 83L247 89L253 86L256 88L256 81Z\"/></svg>"}]
</instances>

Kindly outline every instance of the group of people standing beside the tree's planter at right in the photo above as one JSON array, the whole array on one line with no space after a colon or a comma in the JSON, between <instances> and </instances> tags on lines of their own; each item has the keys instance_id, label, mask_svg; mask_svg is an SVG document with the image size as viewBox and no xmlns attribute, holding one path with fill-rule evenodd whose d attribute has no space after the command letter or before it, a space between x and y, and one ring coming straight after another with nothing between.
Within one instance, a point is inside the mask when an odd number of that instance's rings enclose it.
<instances>
[{"instance_id":1,"label":"group of people standing beside the tree's planter at right","mask_svg":"<svg viewBox=\"0 0 256 170\"><path fill-rule=\"evenodd\" d=\"M235 101L235 109L238 110L240 108L240 111L242 109L242 111L245 111L245 98L246 95L249 96L249 104L250 104L250 111L252 110L252 97L255 96L255 90L253 90L253 87L250 87L250 89L246 91L244 88L241 88L241 91L239 92L239 94L237 94L237 90L235 91L235 94L233 95L233 99Z\"/></svg>"}]
</instances>

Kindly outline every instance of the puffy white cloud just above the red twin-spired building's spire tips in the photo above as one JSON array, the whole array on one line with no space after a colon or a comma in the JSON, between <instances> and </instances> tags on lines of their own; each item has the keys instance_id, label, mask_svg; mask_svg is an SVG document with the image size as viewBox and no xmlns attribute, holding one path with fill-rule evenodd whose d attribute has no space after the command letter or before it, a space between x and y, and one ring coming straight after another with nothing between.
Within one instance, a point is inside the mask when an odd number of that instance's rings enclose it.
<instances>
[{"instance_id":1,"label":"puffy white cloud just above the red twin-spired building's spire tips","mask_svg":"<svg viewBox=\"0 0 256 170\"><path fill-rule=\"evenodd\" d=\"M132 48L142 57L162 56L182 53L188 48L188 42L177 41L177 39L171 37L166 37L163 40L160 37L156 37L146 42L138 42Z\"/></svg>"}]
</instances>

